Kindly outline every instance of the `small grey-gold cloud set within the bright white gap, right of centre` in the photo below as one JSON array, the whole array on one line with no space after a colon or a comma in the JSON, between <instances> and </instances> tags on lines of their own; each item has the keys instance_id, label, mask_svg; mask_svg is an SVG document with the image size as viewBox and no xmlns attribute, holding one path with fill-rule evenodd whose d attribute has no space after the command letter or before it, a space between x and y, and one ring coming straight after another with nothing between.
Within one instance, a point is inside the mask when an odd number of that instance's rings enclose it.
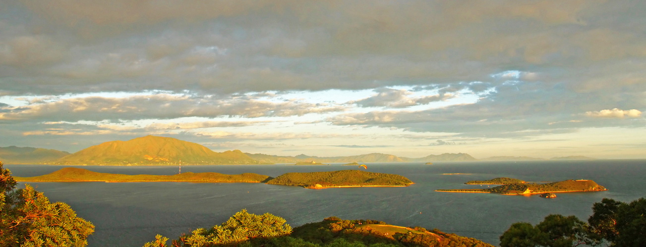
<instances>
[{"instance_id":1,"label":"small grey-gold cloud set within the bright white gap, right of centre","mask_svg":"<svg viewBox=\"0 0 646 247\"><path fill-rule=\"evenodd\" d=\"M392 108L404 108L413 105L425 105L430 102L446 100L454 97L450 94L410 97L408 95L413 95L412 91L384 87L375 89L374 91L377 92L377 95L373 95L362 100L349 101L346 104L357 104L361 107L386 106Z\"/></svg>"}]
</instances>

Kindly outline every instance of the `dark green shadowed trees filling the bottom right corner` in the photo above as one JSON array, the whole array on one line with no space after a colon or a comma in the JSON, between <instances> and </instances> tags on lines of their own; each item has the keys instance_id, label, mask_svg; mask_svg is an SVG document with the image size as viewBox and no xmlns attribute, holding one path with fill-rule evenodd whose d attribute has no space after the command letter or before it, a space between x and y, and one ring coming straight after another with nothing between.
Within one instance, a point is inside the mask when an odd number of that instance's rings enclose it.
<instances>
[{"instance_id":1,"label":"dark green shadowed trees filling the bottom right corner","mask_svg":"<svg viewBox=\"0 0 646 247\"><path fill-rule=\"evenodd\" d=\"M541 223L514 223L500 236L501 247L646 246L646 199L630 203L604 198L585 223L576 216L551 214Z\"/></svg>"}]
</instances>

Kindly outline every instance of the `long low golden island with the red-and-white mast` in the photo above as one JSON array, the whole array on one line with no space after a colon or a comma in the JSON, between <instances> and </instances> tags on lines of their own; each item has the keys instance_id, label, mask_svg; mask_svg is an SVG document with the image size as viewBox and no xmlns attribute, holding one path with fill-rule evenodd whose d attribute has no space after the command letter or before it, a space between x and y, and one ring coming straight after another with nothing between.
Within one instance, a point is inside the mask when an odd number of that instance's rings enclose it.
<instances>
[{"instance_id":1,"label":"long low golden island with the red-and-white mast","mask_svg":"<svg viewBox=\"0 0 646 247\"><path fill-rule=\"evenodd\" d=\"M36 177L14 177L21 182L193 182L193 183L262 183L272 179L270 176L255 173L220 174L217 172L185 172L175 175L125 175L75 167L65 167L50 174Z\"/></svg>"}]
</instances>

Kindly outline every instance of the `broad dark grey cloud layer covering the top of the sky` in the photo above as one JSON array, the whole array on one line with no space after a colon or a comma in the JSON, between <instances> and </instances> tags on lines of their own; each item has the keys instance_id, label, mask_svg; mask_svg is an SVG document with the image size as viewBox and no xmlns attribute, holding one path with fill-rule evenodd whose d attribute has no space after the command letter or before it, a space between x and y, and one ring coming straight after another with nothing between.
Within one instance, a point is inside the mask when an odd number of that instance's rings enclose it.
<instances>
[{"instance_id":1,"label":"broad dark grey cloud layer covering the top of the sky","mask_svg":"<svg viewBox=\"0 0 646 247\"><path fill-rule=\"evenodd\" d=\"M643 84L640 1L238 2L3 2L0 86L317 91L488 83L510 69L576 91Z\"/></svg>"}]
</instances>

